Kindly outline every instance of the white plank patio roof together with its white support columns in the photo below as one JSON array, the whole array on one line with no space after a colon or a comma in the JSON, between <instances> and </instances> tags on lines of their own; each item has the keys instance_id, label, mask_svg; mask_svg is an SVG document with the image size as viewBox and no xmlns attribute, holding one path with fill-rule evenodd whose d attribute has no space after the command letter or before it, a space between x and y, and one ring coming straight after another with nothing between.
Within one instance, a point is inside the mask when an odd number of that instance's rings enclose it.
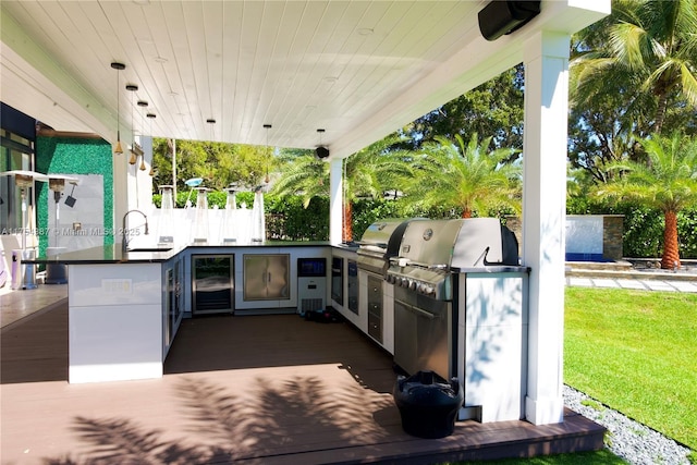
<instances>
[{"instance_id":1,"label":"white plank patio roof together with its white support columns","mask_svg":"<svg viewBox=\"0 0 697 465\"><path fill-rule=\"evenodd\" d=\"M525 413L535 425L555 424L564 412L568 42L610 13L610 0L542 0L539 15L494 41L479 30L487 4L2 1L1 98L57 131L111 142L117 127L122 140L134 126L143 131L137 100L158 115L149 135L160 137L314 148L323 129L337 245L343 158L523 62ZM114 71L113 61L125 70ZM126 93L126 83L138 90ZM265 124L272 125L268 140ZM137 173L117 160L114 183L137 191ZM131 197L114 198L117 212L127 211Z\"/></svg>"}]
</instances>

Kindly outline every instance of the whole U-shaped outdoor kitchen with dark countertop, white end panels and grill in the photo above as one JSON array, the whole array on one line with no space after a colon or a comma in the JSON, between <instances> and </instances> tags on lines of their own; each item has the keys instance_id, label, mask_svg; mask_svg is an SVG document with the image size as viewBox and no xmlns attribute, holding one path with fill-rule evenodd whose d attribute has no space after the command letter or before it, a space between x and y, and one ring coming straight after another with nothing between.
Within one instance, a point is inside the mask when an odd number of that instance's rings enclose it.
<instances>
[{"instance_id":1,"label":"whole U-shaped outdoor kitchen with dark countertop, white end panels and grill","mask_svg":"<svg viewBox=\"0 0 697 465\"><path fill-rule=\"evenodd\" d=\"M333 307L406 372L456 377L461 419L523 418L528 270L513 265L515 240L496 219L400 223L374 225L401 244L381 274L360 269L357 246L309 242L118 244L37 259L68 265L69 382L162 377L183 318Z\"/></svg>"}]
</instances>

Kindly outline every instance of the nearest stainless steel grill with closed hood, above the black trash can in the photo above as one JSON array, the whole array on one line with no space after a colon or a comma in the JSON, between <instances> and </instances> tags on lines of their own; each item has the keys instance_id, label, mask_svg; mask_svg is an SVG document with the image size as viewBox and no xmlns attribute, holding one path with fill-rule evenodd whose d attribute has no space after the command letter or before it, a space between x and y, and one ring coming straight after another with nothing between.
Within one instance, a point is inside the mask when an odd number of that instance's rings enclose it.
<instances>
[{"instance_id":1,"label":"nearest stainless steel grill with closed hood, above the black trash can","mask_svg":"<svg viewBox=\"0 0 697 465\"><path fill-rule=\"evenodd\" d=\"M457 273L517 265L517 242L496 218L414 221L386 280L394 287L394 362L408 374L457 372L453 281Z\"/></svg>"}]
</instances>

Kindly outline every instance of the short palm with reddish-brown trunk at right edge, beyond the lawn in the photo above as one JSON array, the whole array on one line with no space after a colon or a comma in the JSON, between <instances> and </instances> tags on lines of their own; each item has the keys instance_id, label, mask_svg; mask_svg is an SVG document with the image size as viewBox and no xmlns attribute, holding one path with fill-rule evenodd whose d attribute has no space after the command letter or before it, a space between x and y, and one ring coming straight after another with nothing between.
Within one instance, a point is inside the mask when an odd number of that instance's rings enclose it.
<instances>
[{"instance_id":1,"label":"short palm with reddish-brown trunk at right edge, beyond the lawn","mask_svg":"<svg viewBox=\"0 0 697 465\"><path fill-rule=\"evenodd\" d=\"M617 162L622 173L602 185L599 195L634 198L663 212L663 256L661 268L680 268L677 212L697 203L697 139L678 133L670 137L655 134L643 142L648 163Z\"/></svg>"}]
</instances>

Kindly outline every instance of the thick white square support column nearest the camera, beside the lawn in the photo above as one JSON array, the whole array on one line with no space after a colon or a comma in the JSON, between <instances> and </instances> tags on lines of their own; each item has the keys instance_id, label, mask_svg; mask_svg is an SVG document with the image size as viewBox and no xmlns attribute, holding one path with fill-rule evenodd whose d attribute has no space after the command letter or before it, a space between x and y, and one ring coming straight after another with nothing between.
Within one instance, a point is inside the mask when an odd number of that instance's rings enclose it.
<instances>
[{"instance_id":1,"label":"thick white square support column nearest the camera, beside the lawn","mask_svg":"<svg viewBox=\"0 0 697 465\"><path fill-rule=\"evenodd\" d=\"M528 421L563 421L564 221L570 36L540 32L524 46L523 264L530 267Z\"/></svg>"}]
</instances>

